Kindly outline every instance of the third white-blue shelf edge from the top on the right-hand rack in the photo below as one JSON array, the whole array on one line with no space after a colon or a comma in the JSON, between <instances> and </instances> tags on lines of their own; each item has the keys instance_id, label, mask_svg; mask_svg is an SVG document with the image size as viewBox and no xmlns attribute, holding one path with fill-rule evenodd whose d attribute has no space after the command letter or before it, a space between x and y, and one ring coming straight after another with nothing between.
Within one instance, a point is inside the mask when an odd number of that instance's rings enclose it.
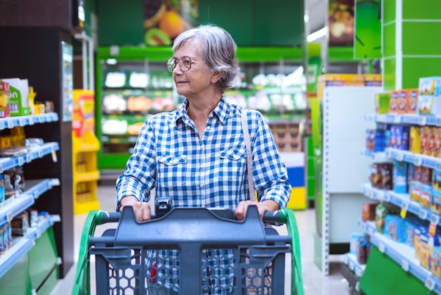
<instances>
[{"instance_id":1,"label":"third white-blue shelf edge from the top on the right-hand rack","mask_svg":"<svg viewBox=\"0 0 441 295\"><path fill-rule=\"evenodd\" d=\"M400 208L405 209L407 212L418 215L423 220L429 220L432 223L441 225L440 215L432 213L430 209L421 206L415 201L411 201L409 194L398 194L392 191L386 191L383 189L375 189L371 187L371 184L363 184L361 187L361 194L364 194L369 199L374 201L386 201L393 203Z\"/></svg>"}]
</instances>

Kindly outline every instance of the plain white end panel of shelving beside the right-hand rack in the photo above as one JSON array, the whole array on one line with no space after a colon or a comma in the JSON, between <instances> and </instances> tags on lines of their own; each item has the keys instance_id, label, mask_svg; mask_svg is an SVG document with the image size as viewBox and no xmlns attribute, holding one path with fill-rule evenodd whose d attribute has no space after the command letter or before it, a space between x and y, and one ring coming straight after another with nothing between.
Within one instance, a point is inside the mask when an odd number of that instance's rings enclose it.
<instances>
[{"instance_id":1,"label":"plain white end panel of shelving beside the right-hand rack","mask_svg":"<svg viewBox=\"0 0 441 295\"><path fill-rule=\"evenodd\" d=\"M366 198L359 184L366 180L372 159L361 157L366 129L373 122L363 120L374 110L373 96L382 87L325 87L323 91L323 197L322 232L314 249L321 255L318 265L329 275L330 247L349 244L351 232L358 230L361 204ZM317 205L316 205L317 206ZM318 252L319 251L319 252Z\"/></svg>"}]
</instances>

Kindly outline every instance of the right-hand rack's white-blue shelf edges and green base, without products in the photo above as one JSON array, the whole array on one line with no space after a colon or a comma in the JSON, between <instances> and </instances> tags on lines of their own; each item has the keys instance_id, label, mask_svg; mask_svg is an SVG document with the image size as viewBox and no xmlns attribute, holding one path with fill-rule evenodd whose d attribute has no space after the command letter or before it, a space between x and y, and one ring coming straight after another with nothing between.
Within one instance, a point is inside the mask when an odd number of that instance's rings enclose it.
<instances>
[{"instance_id":1,"label":"right-hand rack's white-blue shelf edges and green base, without products","mask_svg":"<svg viewBox=\"0 0 441 295\"><path fill-rule=\"evenodd\" d=\"M383 128L384 124L402 124L402 125L432 125L439 126L441 123L439 116L432 115L407 115L407 114L367 114L364 120L377 123L379 128ZM437 169L441 167L441 159L422 154L411 153L400 149L387 148L383 152L363 151L365 157L374 160L387 161L404 161L412 163L416 166L424 166ZM375 189L371 184L361 185L361 194L368 197L372 201L393 203L402 209L403 214L412 213L421 220L428 220L430 224L440 225L440 215L430 211L429 208L422 206L416 201L411 200L409 194L398 194L392 190ZM429 270L423 268L419 261L415 258L415 249L397 241L393 241L384 234L377 232L375 222L363 222L359 220L359 226L364 232L369 234L373 251L368 258L366 264L366 272L361 277L359 286L366 294L390 294L391 291L399 293L406 289L411 294L441 294L441 280L434 277ZM393 263L387 263L392 261ZM390 265L390 266L387 266ZM380 279L381 273L386 273L390 280ZM411 275L411 279L409 279ZM375 286L373 287L373 282ZM391 287L397 284L401 287ZM402 282L406 282L403 284ZM404 287L403 287L404 286ZM396 289L394 289L396 288ZM404 288L404 289L403 289ZM380 292L380 293L378 293ZM388 292L388 293L387 293ZM414 293L417 292L417 293Z\"/></svg>"}]
</instances>

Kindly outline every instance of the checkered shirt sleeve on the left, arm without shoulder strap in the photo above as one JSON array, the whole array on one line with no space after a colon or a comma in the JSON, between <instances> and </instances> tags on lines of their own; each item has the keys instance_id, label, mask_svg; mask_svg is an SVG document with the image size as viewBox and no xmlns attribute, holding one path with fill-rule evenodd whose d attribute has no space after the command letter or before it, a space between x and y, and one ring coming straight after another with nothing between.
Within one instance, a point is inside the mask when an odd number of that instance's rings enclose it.
<instances>
[{"instance_id":1,"label":"checkered shirt sleeve on the left, arm without shoulder strap","mask_svg":"<svg viewBox=\"0 0 441 295\"><path fill-rule=\"evenodd\" d=\"M128 159L125 170L116 180L116 211L125 196L135 196L139 201L148 202L150 191L156 184L155 136L152 125L146 121Z\"/></svg>"}]
</instances>

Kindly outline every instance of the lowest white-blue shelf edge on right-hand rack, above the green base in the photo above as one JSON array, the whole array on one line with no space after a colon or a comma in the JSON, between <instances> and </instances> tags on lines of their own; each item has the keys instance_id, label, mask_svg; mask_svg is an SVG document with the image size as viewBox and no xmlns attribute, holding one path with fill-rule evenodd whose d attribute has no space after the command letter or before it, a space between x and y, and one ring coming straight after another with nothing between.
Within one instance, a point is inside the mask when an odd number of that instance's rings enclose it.
<instances>
[{"instance_id":1,"label":"lowest white-blue shelf edge on right-hand rack, above the green base","mask_svg":"<svg viewBox=\"0 0 441 295\"><path fill-rule=\"evenodd\" d=\"M405 272L410 272L418 280L421 280L430 291L441 294L441 280L433 277L433 275L420 266L419 261L415 258L415 249L406 244L393 241L385 237L383 234L376 232L375 223L359 222L366 232L371 236L371 243L378 248L381 253L385 253L396 263L401 265Z\"/></svg>"}]
</instances>

